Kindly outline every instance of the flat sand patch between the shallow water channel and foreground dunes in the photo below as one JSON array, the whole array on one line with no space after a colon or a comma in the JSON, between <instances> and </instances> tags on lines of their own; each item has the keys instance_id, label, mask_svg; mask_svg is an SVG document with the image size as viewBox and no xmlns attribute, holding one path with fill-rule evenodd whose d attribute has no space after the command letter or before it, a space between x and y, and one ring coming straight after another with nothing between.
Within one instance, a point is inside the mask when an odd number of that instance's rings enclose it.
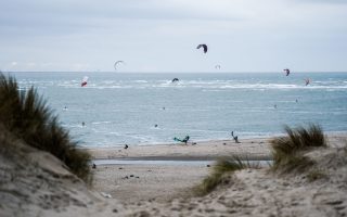
<instances>
[{"instance_id":1,"label":"flat sand patch between the shallow water channel and foreground dunes","mask_svg":"<svg viewBox=\"0 0 347 217\"><path fill-rule=\"evenodd\" d=\"M103 165L94 169L93 189L124 203L169 201L190 193L207 176L206 165Z\"/></svg>"}]
</instances>

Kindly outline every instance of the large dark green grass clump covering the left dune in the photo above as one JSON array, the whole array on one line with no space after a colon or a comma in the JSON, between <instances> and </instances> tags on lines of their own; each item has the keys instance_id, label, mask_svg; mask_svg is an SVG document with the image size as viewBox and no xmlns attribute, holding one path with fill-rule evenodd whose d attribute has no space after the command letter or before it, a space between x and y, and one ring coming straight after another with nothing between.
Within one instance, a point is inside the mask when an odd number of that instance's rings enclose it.
<instances>
[{"instance_id":1,"label":"large dark green grass clump covering the left dune","mask_svg":"<svg viewBox=\"0 0 347 217\"><path fill-rule=\"evenodd\" d=\"M46 101L31 87L20 90L13 77L0 73L0 124L16 138L50 152L79 178L91 183L91 156L72 141L68 131L57 123Z\"/></svg>"}]
</instances>

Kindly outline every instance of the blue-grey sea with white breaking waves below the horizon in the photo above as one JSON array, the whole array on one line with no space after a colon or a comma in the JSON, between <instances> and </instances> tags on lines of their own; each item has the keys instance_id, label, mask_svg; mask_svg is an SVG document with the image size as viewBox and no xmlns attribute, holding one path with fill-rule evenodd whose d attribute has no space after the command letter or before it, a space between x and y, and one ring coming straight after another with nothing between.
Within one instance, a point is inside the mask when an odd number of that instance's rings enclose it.
<instances>
[{"instance_id":1,"label":"blue-grey sea with white breaking waves below the horizon","mask_svg":"<svg viewBox=\"0 0 347 217\"><path fill-rule=\"evenodd\" d=\"M81 146L156 145L185 136L198 142L230 139L231 131L242 141L281 135L284 125L347 131L347 73L10 75L21 89L37 88Z\"/></svg>"}]
</instances>

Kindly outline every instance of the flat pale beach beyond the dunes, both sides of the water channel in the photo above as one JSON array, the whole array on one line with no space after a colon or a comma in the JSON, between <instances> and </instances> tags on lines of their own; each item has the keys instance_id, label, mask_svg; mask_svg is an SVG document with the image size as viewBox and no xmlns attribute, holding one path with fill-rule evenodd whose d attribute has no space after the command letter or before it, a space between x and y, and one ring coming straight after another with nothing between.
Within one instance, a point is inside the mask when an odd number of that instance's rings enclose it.
<instances>
[{"instance_id":1,"label":"flat pale beach beyond the dunes, both sides of the water channel","mask_svg":"<svg viewBox=\"0 0 347 217\"><path fill-rule=\"evenodd\" d=\"M330 146L344 144L347 133L331 133ZM200 183L210 171L210 163L233 155L249 161L271 159L270 138L241 140L215 140L188 145L172 143L166 145L129 145L124 148L89 149L94 159L120 159L117 165L97 165L94 190L105 192L124 203L139 201L170 201L190 195L191 188ZM130 161L131 164L127 164ZM182 161L181 165L136 164L136 161ZM198 162L189 164L188 162ZM107 161L106 161L107 162ZM111 161L110 161L111 162ZM265 165L267 166L267 165Z\"/></svg>"}]
</instances>

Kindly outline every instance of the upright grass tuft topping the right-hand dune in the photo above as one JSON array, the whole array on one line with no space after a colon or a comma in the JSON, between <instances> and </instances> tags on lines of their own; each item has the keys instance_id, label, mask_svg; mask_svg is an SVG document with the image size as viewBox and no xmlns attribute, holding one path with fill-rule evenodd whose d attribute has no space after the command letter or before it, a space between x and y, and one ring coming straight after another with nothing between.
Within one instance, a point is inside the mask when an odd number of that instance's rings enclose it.
<instances>
[{"instance_id":1,"label":"upright grass tuft topping the right-hand dune","mask_svg":"<svg viewBox=\"0 0 347 217\"><path fill-rule=\"evenodd\" d=\"M285 126L286 137L270 141L273 155L273 170L291 171L303 170L313 165L313 162L304 156L304 152L318 146L326 146L325 137L320 126L309 125L308 129L295 129Z\"/></svg>"}]
</instances>

